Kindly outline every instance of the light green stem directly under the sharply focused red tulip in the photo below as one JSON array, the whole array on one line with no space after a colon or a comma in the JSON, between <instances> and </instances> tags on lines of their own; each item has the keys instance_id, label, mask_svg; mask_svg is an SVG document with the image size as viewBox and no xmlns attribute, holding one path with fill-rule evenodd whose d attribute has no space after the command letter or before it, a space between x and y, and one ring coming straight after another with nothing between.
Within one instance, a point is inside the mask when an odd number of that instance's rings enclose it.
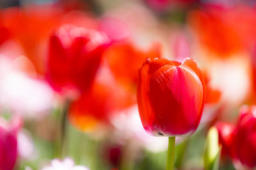
<instances>
[{"instance_id":1,"label":"light green stem directly under the sharply focused red tulip","mask_svg":"<svg viewBox=\"0 0 256 170\"><path fill-rule=\"evenodd\" d=\"M174 165L174 153L175 153L175 136L171 136L168 139L168 151L167 151L167 165L166 170L173 170Z\"/></svg>"}]
</instances>

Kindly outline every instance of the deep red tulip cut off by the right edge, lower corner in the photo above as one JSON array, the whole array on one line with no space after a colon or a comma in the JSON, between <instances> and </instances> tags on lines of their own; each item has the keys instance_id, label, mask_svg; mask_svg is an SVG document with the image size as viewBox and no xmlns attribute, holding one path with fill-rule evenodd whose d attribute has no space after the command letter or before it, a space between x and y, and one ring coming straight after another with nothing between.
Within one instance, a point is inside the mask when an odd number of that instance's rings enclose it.
<instances>
[{"instance_id":1,"label":"deep red tulip cut off by the right edge, lower corner","mask_svg":"<svg viewBox=\"0 0 256 170\"><path fill-rule=\"evenodd\" d=\"M256 106L245 108L236 127L237 158L247 167L256 167Z\"/></svg>"}]
</instances>

